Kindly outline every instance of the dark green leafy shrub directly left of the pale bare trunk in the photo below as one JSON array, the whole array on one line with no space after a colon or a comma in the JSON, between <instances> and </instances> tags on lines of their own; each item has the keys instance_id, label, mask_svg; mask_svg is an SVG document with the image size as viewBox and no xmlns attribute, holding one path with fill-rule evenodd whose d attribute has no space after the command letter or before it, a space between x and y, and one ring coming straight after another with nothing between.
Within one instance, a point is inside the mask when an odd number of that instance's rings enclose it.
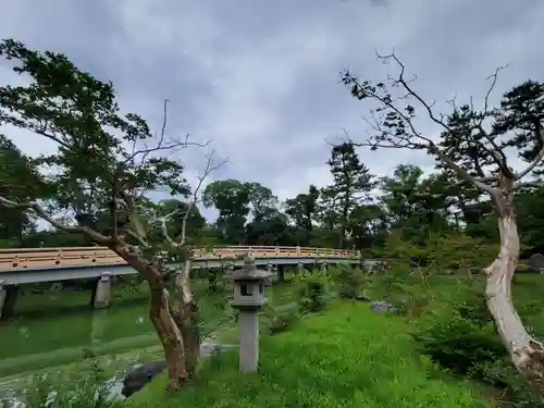
<instances>
[{"instance_id":1,"label":"dark green leafy shrub directly left of the pale bare trunk","mask_svg":"<svg viewBox=\"0 0 544 408\"><path fill-rule=\"evenodd\" d=\"M508 407L544 407L511 363L482 293L475 284L444 287L412 337L440 367L499 390Z\"/></svg>"}]
</instances>

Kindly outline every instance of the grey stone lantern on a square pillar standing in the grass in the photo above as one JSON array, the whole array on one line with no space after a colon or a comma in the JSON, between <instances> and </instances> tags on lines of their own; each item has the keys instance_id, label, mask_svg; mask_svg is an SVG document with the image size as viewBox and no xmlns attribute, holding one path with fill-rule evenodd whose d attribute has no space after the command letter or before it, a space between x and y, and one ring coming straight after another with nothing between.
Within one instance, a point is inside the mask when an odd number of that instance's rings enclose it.
<instances>
[{"instance_id":1,"label":"grey stone lantern on a square pillar standing in the grass","mask_svg":"<svg viewBox=\"0 0 544 408\"><path fill-rule=\"evenodd\" d=\"M257 371L259 362L259 311L267 304L265 281L272 275L255 268L250 256L244 259L242 270L228 275L234 282L231 306L239 310L239 368L242 372Z\"/></svg>"}]
</instances>

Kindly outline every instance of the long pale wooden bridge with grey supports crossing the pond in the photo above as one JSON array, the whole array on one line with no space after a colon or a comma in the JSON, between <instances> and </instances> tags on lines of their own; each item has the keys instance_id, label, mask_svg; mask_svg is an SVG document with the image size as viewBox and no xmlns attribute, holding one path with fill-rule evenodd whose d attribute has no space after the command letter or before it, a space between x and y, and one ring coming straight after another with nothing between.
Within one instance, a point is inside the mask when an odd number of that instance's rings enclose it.
<instances>
[{"instance_id":1,"label":"long pale wooden bridge with grey supports crossing the pond","mask_svg":"<svg viewBox=\"0 0 544 408\"><path fill-rule=\"evenodd\" d=\"M361 262L360 254L356 250L230 246L194 249L191 264L195 269L240 267L246 255L252 256L258 265L268 269L275 267L282 275L286 265L321 263L325 267L331 263ZM0 249L0 319L13 314L22 284L96 280L91 302L102 308L110 304L110 276L135 273L124 259L104 247Z\"/></svg>"}]
</instances>

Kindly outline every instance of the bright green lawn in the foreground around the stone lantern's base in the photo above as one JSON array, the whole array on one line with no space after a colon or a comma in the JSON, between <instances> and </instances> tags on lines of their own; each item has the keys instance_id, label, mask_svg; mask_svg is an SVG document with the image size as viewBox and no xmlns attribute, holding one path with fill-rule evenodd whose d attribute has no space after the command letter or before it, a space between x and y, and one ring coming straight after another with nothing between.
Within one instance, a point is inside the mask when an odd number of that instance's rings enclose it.
<instances>
[{"instance_id":1,"label":"bright green lawn in the foreground around the stone lantern's base","mask_svg":"<svg viewBox=\"0 0 544 408\"><path fill-rule=\"evenodd\" d=\"M293 332L261 342L260 370L238 373L236 351L211 359L195 384L164 392L164 376L131 407L489 407L475 386L444 376L415 351L406 323L368 305L336 302Z\"/></svg>"}]
</instances>

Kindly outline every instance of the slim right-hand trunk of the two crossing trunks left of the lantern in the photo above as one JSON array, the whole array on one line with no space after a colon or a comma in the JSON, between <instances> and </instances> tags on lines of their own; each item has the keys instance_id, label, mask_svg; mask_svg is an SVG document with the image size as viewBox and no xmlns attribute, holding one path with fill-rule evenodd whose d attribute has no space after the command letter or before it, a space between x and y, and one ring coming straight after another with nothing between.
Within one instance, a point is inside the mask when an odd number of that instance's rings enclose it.
<instances>
[{"instance_id":1,"label":"slim right-hand trunk of the two crossing trunks left of the lantern","mask_svg":"<svg viewBox=\"0 0 544 408\"><path fill-rule=\"evenodd\" d=\"M187 371L194 378L200 360L200 330L198 321L198 304L189 286L190 260L185 261L184 269L175 276L175 299L171 304L172 317L180 329Z\"/></svg>"}]
</instances>

